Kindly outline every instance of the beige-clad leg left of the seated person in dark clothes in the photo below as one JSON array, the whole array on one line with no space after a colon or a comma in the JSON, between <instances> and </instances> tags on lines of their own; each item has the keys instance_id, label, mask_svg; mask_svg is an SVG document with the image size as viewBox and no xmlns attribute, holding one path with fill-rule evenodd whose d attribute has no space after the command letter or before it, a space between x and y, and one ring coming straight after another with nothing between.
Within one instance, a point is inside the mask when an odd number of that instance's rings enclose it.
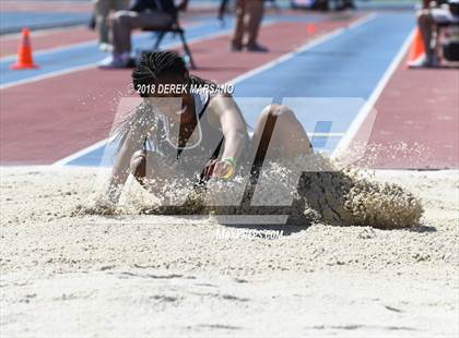
<instances>
[{"instance_id":1,"label":"beige-clad leg left of the seated person in dark clothes","mask_svg":"<svg viewBox=\"0 0 459 338\"><path fill-rule=\"evenodd\" d=\"M101 50L107 51L110 49L110 41L108 37L108 15L110 11L126 10L129 0L93 0L94 1L94 19L98 32L98 44Z\"/></svg>"}]
</instances>

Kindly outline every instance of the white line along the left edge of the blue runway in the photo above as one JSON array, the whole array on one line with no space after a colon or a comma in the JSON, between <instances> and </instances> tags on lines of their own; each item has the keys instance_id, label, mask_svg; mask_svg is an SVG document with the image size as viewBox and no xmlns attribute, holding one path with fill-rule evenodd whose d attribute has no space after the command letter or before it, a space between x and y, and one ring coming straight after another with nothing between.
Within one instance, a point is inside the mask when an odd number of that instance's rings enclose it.
<instances>
[{"instance_id":1,"label":"white line along the left edge of the blue runway","mask_svg":"<svg viewBox=\"0 0 459 338\"><path fill-rule=\"evenodd\" d=\"M294 56L296 56L296 55L298 55L301 52L304 52L306 50L309 50L309 49L316 47L319 44L323 44L323 43L326 43L328 40L331 40L332 38L334 38L334 37L341 35L341 34L348 32L349 29L354 29L354 28L356 28L358 26L362 26L363 24L365 24L365 23L374 20L376 16L377 15L375 13L367 14L367 15L363 16L362 19L360 19L360 20L355 21L354 23L352 23L351 24L352 26L349 25L346 27L341 27L341 28L337 28L334 31L331 31L331 32L329 32L329 33L327 33L327 34L318 37L317 39L314 39L311 41L308 41L305 45L303 45L303 46L294 49L293 51L291 51L289 53L285 53L285 55L279 57L278 59L274 59L274 60L272 60L272 61L270 61L270 62L268 62L268 63L266 63L266 64L263 64L263 65L261 65L259 68L256 68L256 69L254 69L254 70L251 70L251 71L249 71L247 73L244 73L244 74L242 74L239 76L234 77L233 80L227 81L226 84L236 84L236 83L242 82L242 81L244 81L244 80L246 80L246 79L248 79L250 76L255 76L258 73L261 73L261 72L263 72L263 71L266 71L268 69L271 69L271 68L273 68L273 67L275 67L275 65L278 65L278 64L282 63L282 62L285 62L285 61L292 59ZM316 133L316 134L317 134L317 136L319 136L318 133ZM314 133L311 133L311 135L314 135ZM327 134L327 135L329 135L329 134ZM338 137L341 137L342 134L341 133L337 133L337 136ZM76 159L78 157L81 157L83 155L86 155L86 154L93 152L98 146L102 146L102 145L106 144L109 140L110 140L110 137L105 138L105 140L102 140L102 141L97 142L96 144L93 144L93 145L91 145L91 146L89 146L86 148L83 148L83 149L79 150L78 153L74 153L72 155L69 155L69 156L67 156L67 157L64 157L64 158L56 161L55 164L52 164L52 166L64 166L68 162ZM78 156L76 156L76 154L78 154Z\"/></svg>"}]
</instances>

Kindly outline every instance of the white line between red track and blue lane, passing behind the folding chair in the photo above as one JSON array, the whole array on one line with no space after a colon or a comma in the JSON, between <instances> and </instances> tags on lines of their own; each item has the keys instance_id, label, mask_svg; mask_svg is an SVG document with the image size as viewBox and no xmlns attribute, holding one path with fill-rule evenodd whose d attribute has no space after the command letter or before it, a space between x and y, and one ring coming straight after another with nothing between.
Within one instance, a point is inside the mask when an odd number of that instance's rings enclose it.
<instances>
[{"instance_id":1,"label":"white line between red track and blue lane, passing behind the folding chair","mask_svg":"<svg viewBox=\"0 0 459 338\"><path fill-rule=\"evenodd\" d=\"M270 26L274 23L275 23L274 21L267 22L266 24L263 24L263 26L267 27L267 26ZM197 44L197 43L200 43L200 41L203 41L203 40L207 40L207 39L224 36L226 34L228 34L229 32L232 32L232 28L227 28L227 29L223 29L223 31L220 31L220 32L211 33L211 34L208 34L208 35L201 36L201 37L190 38L188 40L188 45L191 46L193 44ZM86 43L83 43L83 44L86 44ZM181 46L181 41L175 41L175 43L165 44L163 46L163 48L176 48L176 47L179 47L179 46ZM50 79L50 77L56 77L56 76L60 76L60 75L64 75L64 74L70 74L70 73L80 72L80 71L87 70L87 69L96 68L98 62L99 61L91 62L91 63L86 63L86 64L82 64L82 65L78 65L78 67L73 67L73 68L68 68L68 69L64 69L64 70L49 72L49 73L43 74L43 75L37 75L37 76L32 76L32 77L28 77L28 79L24 79L24 80L10 82L8 84L0 85L0 89L11 88L11 87L23 85L23 84L34 83L34 82Z\"/></svg>"}]
</instances>

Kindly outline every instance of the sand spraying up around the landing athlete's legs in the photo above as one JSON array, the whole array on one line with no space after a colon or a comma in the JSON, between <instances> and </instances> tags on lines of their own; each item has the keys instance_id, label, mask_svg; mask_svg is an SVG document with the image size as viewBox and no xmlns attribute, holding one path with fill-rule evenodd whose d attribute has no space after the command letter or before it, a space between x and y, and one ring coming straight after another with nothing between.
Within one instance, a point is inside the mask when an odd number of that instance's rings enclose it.
<instances>
[{"instance_id":1,"label":"sand spraying up around the landing athlete's legs","mask_svg":"<svg viewBox=\"0 0 459 338\"><path fill-rule=\"evenodd\" d=\"M304 216L305 221L393 229L416 225L423 214L419 198L402 186L376 182L356 168L337 170L320 154L301 157L287 165L268 162L260 170L257 183L252 183L254 180L244 174L231 181L211 180L205 189L199 190L189 179L149 181L146 185L158 186L156 198L152 198L133 182L126 193L128 206L97 209L90 203L76 207L74 215L287 213Z\"/></svg>"}]
</instances>

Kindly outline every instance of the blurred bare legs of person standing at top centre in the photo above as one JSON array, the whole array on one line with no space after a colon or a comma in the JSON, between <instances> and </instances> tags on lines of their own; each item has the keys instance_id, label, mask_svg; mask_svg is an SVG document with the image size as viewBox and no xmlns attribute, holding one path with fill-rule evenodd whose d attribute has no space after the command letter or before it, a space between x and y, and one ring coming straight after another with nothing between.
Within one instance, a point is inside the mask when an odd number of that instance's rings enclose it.
<instances>
[{"instance_id":1,"label":"blurred bare legs of person standing at top centre","mask_svg":"<svg viewBox=\"0 0 459 338\"><path fill-rule=\"evenodd\" d=\"M247 35L248 51L268 51L258 45L257 37L263 19L262 0L236 0L236 26L231 41L231 50L240 51L244 47L243 39Z\"/></svg>"}]
</instances>

